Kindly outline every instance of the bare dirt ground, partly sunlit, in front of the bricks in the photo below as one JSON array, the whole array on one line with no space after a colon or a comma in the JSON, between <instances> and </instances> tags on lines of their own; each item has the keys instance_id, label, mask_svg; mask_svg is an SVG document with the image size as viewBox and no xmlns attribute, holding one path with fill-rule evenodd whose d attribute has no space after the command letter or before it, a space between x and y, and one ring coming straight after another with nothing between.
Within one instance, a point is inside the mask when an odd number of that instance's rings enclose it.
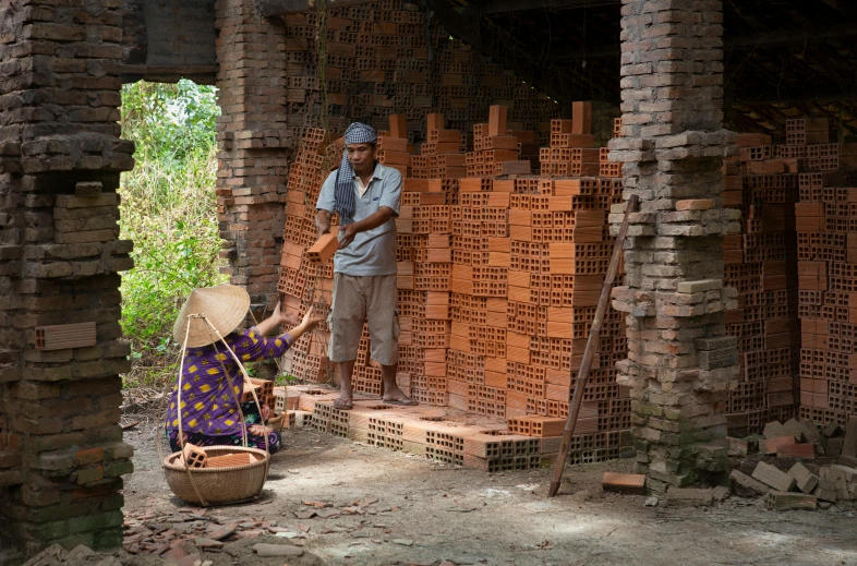
<instances>
[{"instance_id":1,"label":"bare dirt ground, partly sunlit, in front of the bricks","mask_svg":"<svg viewBox=\"0 0 857 566\"><path fill-rule=\"evenodd\" d=\"M154 427L126 432L136 447L125 510L176 515ZM712 507L644 506L644 496L605 494L604 470L629 461L567 467L559 495L545 498L551 469L488 474L433 463L307 429L283 433L263 497L210 509L212 517L264 518L299 533L299 558L255 556L265 535L206 551L213 566L249 564L487 565L857 565L857 519L848 509L774 513L761 499ZM377 497L364 515L298 519L303 501L350 505ZM371 499L370 499L371 501ZM186 510L185 510L186 513ZM303 529L302 529L303 528ZM305 530L305 531L304 531ZM301 538L304 537L304 538ZM447 563L447 564L449 564Z\"/></svg>"}]
</instances>

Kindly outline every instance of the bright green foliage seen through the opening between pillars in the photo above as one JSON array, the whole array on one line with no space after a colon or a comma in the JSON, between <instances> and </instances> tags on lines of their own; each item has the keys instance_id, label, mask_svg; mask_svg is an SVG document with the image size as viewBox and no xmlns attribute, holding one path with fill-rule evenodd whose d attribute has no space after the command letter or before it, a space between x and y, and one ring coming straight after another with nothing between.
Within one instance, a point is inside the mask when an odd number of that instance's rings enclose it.
<instances>
[{"instance_id":1,"label":"bright green foliage seen through the opening between pillars","mask_svg":"<svg viewBox=\"0 0 857 566\"><path fill-rule=\"evenodd\" d=\"M122 136L136 143L122 176L123 239L134 241L134 269L122 277L122 329L132 344L126 381L172 376L179 350L172 323L195 287L219 274L215 88L190 81L122 87Z\"/></svg>"}]
</instances>

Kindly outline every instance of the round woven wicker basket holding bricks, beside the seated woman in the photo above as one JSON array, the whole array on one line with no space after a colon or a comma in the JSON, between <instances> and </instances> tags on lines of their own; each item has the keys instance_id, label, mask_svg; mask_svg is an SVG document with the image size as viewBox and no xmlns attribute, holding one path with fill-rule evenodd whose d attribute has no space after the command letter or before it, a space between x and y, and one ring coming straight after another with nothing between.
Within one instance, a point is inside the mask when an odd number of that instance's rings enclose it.
<instances>
[{"instance_id":1,"label":"round woven wicker basket holding bricks, beside the seated woman","mask_svg":"<svg viewBox=\"0 0 857 566\"><path fill-rule=\"evenodd\" d=\"M244 466L191 468L188 470L181 461L180 451L170 454L164 459L167 483L177 496L196 505L238 503L257 497L268 477L268 459L270 458L268 453L242 446L205 447L205 453L208 456L222 456L240 451L252 454L256 461ZM193 474L193 479L189 478L189 473ZM205 499L205 503L200 501L200 496Z\"/></svg>"}]
</instances>

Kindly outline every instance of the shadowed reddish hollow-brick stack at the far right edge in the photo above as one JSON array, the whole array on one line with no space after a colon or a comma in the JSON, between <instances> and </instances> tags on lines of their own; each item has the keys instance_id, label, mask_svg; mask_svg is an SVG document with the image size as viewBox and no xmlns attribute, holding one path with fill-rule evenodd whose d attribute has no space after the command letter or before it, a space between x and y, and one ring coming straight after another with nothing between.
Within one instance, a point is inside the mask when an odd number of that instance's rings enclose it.
<instances>
[{"instance_id":1,"label":"shadowed reddish hollow-brick stack at the far right edge","mask_svg":"<svg viewBox=\"0 0 857 566\"><path fill-rule=\"evenodd\" d=\"M845 425L857 414L857 188L849 176L833 172L841 146L829 143L826 120L789 120L786 141L800 152L800 417Z\"/></svg>"}]
</instances>

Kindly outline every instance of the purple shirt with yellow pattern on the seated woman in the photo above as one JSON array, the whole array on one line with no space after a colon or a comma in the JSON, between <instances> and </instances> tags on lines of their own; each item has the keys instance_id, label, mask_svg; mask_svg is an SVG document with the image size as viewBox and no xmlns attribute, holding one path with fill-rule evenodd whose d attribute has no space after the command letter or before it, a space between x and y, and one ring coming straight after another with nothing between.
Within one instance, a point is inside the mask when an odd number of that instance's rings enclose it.
<instances>
[{"instance_id":1,"label":"purple shirt with yellow pattern on the seated woman","mask_svg":"<svg viewBox=\"0 0 857 566\"><path fill-rule=\"evenodd\" d=\"M231 333L225 340L242 362L278 358L292 344L288 333L276 338L265 338L259 336L255 326L243 333ZM229 390L229 380L224 375L224 368L232 380L234 396ZM188 348L182 365L182 431L188 434L198 432L207 436L241 434L241 417L236 398L241 399L243 392L244 376L222 342ZM176 411L178 396L177 380L167 409L168 431L179 427Z\"/></svg>"}]
</instances>

